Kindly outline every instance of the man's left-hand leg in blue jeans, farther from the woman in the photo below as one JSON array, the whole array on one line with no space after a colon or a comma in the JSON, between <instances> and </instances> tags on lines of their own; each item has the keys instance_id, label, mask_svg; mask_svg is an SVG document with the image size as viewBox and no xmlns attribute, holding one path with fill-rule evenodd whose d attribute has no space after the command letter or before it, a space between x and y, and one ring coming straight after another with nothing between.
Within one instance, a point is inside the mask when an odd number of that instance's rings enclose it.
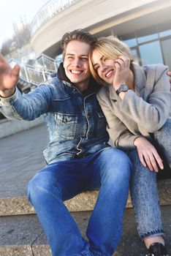
<instances>
[{"instance_id":1,"label":"man's left-hand leg in blue jeans, farther from the woman","mask_svg":"<svg viewBox=\"0 0 171 256\"><path fill-rule=\"evenodd\" d=\"M63 200L79 192L79 170L75 160L47 165L28 183L28 199L50 244L53 256L90 256L88 243L80 235L80 230L72 219Z\"/></svg>"}]
</instances>

